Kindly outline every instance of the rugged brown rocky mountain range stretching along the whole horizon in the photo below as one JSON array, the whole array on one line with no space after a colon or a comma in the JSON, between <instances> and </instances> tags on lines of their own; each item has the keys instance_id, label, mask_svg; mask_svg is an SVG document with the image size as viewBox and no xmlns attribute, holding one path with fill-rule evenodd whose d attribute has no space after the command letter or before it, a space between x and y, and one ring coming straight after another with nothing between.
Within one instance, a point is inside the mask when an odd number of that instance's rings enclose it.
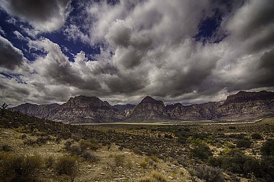
<instances>
[{"instance_id":1,"label":"rugged brown rocky mountain range stretching along the whole horizon","mask_svg":"<svg viewBox=\"0 0 274 182\"><path fill-rule=\"evenodd\" d=\"M27 115L71 123L104 123L117 121L201 121L260 119L274 117L274 93L240 91L225 101L184 106L164 105L146 96L139 104L110 105L98 97L80 95L60 104L21 104L11 110Z\"/></svg>"}]
</instances>

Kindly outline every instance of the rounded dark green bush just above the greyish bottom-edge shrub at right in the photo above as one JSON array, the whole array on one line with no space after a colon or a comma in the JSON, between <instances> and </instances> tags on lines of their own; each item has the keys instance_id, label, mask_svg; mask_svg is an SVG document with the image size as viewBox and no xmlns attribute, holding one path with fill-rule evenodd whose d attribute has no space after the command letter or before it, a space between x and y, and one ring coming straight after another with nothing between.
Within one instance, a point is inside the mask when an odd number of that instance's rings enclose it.
<instances>
[{"instance_id":1,"label":"rounded dark green bush just above the greyish bottom-edge shrub at right","mask_svg":"<svg viewBox=\"0 0 274 182\"><path fill-rule=\"evenodd\" d=\"M194 149L190 150L193 157L198 157L201 160L208 160L208 157L212 156L212 151L208 145L200 143Z\"/></svg>"}]
</instances>

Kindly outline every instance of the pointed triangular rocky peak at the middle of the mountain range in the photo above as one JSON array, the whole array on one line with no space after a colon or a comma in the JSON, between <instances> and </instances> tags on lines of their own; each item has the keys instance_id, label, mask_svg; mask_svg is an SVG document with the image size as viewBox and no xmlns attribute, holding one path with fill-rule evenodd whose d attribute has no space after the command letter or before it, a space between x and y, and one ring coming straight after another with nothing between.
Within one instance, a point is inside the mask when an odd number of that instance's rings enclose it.
<instances>
[{"instance_id":1,"label":"pointed triangular rocky peak at the middle of the mountain range","mask_svg":"<svg viewBox=\"0 0 274 182\"><path fill-rule=\"evenodd\" d=\"M168 119L168 117L164 102L147 96L129 112L126 119L129 121L150 121Z\"/></svg>"}]
</instances>

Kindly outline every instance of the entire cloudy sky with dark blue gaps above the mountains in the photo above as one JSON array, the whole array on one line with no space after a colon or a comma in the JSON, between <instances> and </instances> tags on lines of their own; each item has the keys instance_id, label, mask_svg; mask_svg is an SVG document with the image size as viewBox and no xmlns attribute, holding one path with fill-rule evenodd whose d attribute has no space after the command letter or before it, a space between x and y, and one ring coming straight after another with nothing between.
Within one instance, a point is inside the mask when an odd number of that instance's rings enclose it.
<instances>
[{"instance_id":1,"label":"entire cloudy sky with dark blue gaps above the mountains","mask_svg":"<svg viewBox=\"0 0 274 182\"><path fill-rule=\"evenodd\" d=\"M0 0L0 100L199 104L274 91L273 10L273 0Z\"/></svg>"}]
</instances>

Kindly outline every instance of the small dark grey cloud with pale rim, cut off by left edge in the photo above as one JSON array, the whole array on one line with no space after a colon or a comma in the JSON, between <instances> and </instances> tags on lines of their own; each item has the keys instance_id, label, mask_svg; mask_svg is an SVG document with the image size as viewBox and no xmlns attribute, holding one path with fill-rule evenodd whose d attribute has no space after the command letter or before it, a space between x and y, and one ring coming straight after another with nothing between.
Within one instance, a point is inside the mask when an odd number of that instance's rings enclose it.
<instances>
[{"instance_id":1,"label":"small dark grey cloud with pale rim, cut off by left edge","mask_svg":"<svg viewBox=\"0 0 274 182\"><path fill-rule=\"evenodd\" d=\"M24 57L21 50L15 48L8 40L0 35L0 66L14 70L23 65Z\"/></svg>"}]
</instances>

